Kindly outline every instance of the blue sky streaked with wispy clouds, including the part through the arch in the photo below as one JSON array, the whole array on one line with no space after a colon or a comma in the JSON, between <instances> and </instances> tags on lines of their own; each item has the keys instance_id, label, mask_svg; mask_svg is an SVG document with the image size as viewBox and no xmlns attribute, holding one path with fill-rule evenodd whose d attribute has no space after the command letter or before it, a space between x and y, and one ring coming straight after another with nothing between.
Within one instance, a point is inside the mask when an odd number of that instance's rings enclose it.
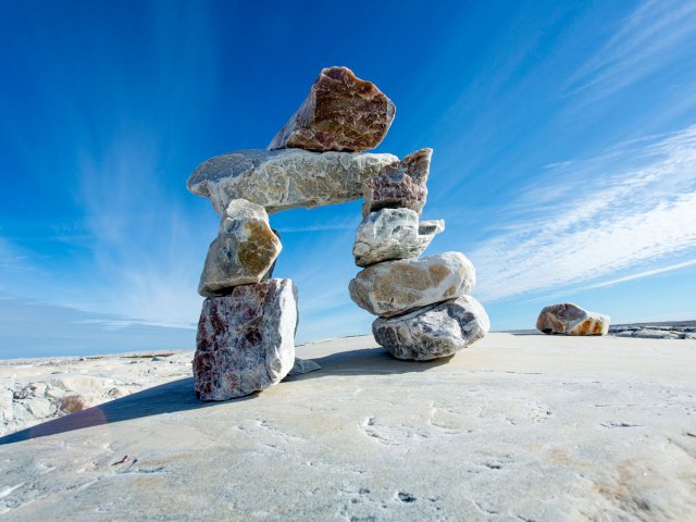
<instances>
[{"instance_id":1,"label":"blue sky streaked with wispy clouds, including the part through the arch","mask_svg":"<svg viewBox=\"0 0 696 522\"><path fill-rule=\"evenodd\" d=\"M0 358L192 348L206 159L263 148L328 65L434 149L428 253L494 330L571 300L696 319L696 3L0 0ZM274 214L298 341L368 333L360 202Z\"/></svg>"}]
</instances>

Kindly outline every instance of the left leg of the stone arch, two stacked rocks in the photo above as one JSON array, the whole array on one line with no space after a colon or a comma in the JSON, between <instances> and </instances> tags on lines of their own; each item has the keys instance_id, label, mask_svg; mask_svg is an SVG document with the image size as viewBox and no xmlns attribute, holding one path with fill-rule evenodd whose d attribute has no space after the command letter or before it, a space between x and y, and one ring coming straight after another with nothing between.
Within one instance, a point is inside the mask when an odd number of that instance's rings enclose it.
<instances>
[{"instance_id":1,"label":"left leg of the stone arch, two stacked rocks","mask_svg":"<svg viewBox=\"0 0 696 522\"><path fill-rule=\"evenodd\" d=\"M297 288L272 279L281 239L265 210L232 200L210 246L198 291L194 381L201 400L226 400L281 382L295 363Z\"/></svg>"}]
</instances>

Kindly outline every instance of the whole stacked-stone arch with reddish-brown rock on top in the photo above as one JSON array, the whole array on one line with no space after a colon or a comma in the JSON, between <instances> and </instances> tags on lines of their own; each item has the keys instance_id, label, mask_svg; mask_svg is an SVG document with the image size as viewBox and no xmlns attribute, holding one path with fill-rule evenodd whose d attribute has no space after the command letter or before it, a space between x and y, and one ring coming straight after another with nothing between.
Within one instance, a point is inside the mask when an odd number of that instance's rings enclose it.
<instances>
[{"instance_id":1,"label":"whole stacked-stone arch with reddish-brown rock on top","mask_svg":"<svg viewBox=\"0 0 696 522\"><path fill-rule=\"evenodd\" d=\"M364 198L353 256L363 268L350 297L380 318L374 336L399 359L455 353L489 330L467 294L475 284L459 252L420 258L445 229L419 222L427 197L432 149L402 160L363 151L386 136L396 108L374 84L346 67L324 69L298 111L266 150L212 158L188 178L188 189L221 215L198 291L206 297L194 358L201 400L261 390L286 375L318 370L295 359L297 289L272 278L281 253L269 214Z\"/></svg>"}]
</instances>

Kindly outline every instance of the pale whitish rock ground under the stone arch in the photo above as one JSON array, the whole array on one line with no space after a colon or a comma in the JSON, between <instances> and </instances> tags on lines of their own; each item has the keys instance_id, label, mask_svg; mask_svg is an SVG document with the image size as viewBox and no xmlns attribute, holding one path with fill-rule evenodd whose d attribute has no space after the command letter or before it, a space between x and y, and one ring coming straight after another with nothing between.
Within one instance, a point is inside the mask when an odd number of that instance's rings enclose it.
<instances>
[{"instance_id":1,"label":"pale whitish rock ground under the stone arch","mask_svg":"<svg viewBox=\"0 0 696 522\"><path fill-rule=\"evenodd\" d=\"M3 520L696 520L696 340L489 334L415 363L353 337L298 356L322 370L213 403L179 378L190 353L162 358L181 373L53 364L175 381L1 438Z\"/></svg>"}]
</instances>

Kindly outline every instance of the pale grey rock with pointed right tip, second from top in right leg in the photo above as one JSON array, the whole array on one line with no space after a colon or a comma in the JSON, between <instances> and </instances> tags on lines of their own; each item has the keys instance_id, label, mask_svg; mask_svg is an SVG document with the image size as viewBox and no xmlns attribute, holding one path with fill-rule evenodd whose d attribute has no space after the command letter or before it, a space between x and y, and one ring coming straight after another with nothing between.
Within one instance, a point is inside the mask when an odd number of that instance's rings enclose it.
<instances>
[{"instance_id":1,"label":"pale grey rock with pointed right tip, second from top in right leg","mask_svg":"<svg viewBox=\"0 0 696 522\"><path fill-rule=\"evenodd\" d=\"M410 209L382 209L360 223L352 246L358 266L391 259L418 258L445 229L443 220L423 221Z\"/></svg>"}]
</instances>

